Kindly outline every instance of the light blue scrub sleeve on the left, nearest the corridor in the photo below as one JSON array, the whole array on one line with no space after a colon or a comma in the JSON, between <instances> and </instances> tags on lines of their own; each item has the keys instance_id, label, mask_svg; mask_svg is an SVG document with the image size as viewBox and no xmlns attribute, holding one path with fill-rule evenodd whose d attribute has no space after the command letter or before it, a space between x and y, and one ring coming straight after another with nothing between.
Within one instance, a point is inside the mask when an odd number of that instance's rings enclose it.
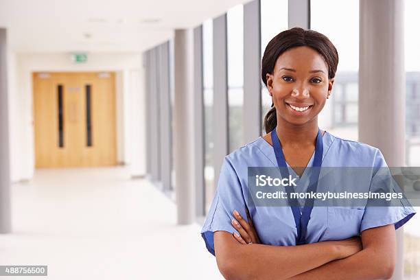
<instances>
[{"instance_id":1,"label":"light blue scrub sleeve on the left, nearest the corridor","mask_svg":"<svg viewBox=\"0 0 420 280\"><path fill-rule=\"evenodd\" d=\"M215 255L213 240L215 231L227 231L229 233L235 231L238 233L231 224L233 210L235 209L242 217L246 217L246 203L240 179L229 158L225 157L220 170L218 187L201 229L201 236L211 254Z\"/></svg>"}]
</instances>

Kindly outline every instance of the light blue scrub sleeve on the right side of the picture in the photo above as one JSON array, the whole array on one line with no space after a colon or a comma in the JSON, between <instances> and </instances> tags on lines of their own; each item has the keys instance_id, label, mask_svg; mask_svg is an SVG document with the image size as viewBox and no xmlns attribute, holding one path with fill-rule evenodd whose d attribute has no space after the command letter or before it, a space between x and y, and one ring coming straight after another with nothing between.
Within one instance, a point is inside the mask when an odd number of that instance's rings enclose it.
<instances>
[{"instance_id":1,"label":"light blue scrub sleeve on the right side of the picture","mask_svg":"<svg viewBox=\"0 0 420 280\"><path fill-rule=\"evenodd\" d=\"M400 190L399 186L390 175L390 172L387 172L387 170L388 165L386 165L384 156L380 150L377 150L371 180L371 192ZM369 206L369 204L368 200L364 209L360 232L377 226L385 226L387 224L394 224L395 229L398 229L408 222L416 213L415 209L413 209L406 198L393 200L392 205L390 204L388 206Z\"/></svg>"}]
</instances>

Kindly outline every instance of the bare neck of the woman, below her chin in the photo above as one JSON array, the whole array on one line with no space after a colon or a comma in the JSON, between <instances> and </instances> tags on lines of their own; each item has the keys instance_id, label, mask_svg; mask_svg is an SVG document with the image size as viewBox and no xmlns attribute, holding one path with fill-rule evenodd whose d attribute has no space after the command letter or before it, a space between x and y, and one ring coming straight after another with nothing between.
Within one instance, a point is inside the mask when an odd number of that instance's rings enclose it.
<instances>
[{"instance_id":1,"label":"bare neck of the woman, below her chin","mask_svg":"<svg viewBox=\"0 0 420 280\"><path fill-rule=\"evenodd\" d=\"M318 118L307 124L294 125L277 117L277 137L281 145L315 145L318 135Z\"/></svg>"}]
</instances>

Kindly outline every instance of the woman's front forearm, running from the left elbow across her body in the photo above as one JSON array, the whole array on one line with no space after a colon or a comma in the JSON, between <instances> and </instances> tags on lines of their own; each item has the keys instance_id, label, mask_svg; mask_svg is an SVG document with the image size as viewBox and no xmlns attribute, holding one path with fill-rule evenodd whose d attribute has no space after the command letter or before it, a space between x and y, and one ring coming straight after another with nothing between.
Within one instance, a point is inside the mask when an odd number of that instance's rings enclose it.
<instances>
[{"instance_id":1,"label":"woman's front forearm, running from the left elbow across her body","mask_svg":"<svg viewBox=\"0 0 420 280\"><path fill-rule=\"evenodd\" d=\"M353 242L354 243L354 242ZM349 244L353 246L353 244ZM215 256L222 275L232 279L288 279L324 264L347 257L340 242L299 246L242 245L230 233L215 233ZM356 251L354 252L356 253Z\"/></svg>"}]
</instances>

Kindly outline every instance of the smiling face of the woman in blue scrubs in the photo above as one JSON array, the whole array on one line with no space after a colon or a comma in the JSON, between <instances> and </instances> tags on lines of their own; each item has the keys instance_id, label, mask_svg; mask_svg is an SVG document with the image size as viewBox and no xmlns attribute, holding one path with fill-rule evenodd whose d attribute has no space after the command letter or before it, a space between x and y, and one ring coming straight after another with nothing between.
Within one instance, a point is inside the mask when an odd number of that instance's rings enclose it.
<instances>
[{"instance_id":1,"label":"smiling face of the woman in blue scrubs","mask_svg":"<svg viewBox=\"0 0 420 280\"><path fill-rule=\"evenodd\" d=\"M277 121L303 125L316 121L331 94L327 63L310 47L285 51L267 73L267 88L277 111Z\"/></svg>"}]
</instances>

